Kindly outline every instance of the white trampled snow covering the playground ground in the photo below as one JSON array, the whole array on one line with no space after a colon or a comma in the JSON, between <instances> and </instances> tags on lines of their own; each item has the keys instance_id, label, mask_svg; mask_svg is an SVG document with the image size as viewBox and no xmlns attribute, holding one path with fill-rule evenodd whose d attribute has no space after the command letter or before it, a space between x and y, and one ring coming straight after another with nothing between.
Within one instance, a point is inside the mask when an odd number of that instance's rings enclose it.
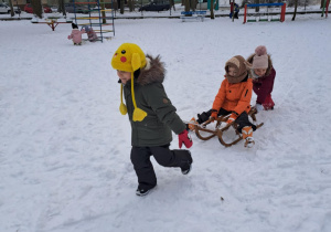
<instances>
[{"instance_id":1,"label":"white trampled snow covering the playground ground","mask_svg":"<svg viewBox=\"0 0 331 232\"><path fill-rule=\"evenodd\" d=\"M0 231L331 231L331 19L120 19L113 40L82 46L67 40L71 24L0 21ZM124 42L161 54L186 120L211 108L229 57L266 45L276 107L258 115L256 146L192 134L192 172L152 158L158 189L137 197L110 66Z\"/></svg>"}]
</instances>

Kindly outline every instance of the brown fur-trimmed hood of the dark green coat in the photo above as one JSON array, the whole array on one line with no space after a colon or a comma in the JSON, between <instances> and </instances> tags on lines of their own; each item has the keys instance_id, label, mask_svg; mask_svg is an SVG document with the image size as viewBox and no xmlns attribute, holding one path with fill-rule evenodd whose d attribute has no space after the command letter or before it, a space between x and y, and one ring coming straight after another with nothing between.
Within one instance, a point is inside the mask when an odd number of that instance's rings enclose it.
<instances>
[{"instance_id":1,"label":"brown fur-trimmed hood of the dark green coat","mask_svg":"<svg viewBox=\"0 0 331 232\"><path fill-rule=\"evenodd\" d=\"M140 75L137 78L139 85L148 85L151 83L163 83L166 76L164 63L160 61L160 55L152 57L146 55L147 65L140 70Z\"/></svg>"}]
</instances>

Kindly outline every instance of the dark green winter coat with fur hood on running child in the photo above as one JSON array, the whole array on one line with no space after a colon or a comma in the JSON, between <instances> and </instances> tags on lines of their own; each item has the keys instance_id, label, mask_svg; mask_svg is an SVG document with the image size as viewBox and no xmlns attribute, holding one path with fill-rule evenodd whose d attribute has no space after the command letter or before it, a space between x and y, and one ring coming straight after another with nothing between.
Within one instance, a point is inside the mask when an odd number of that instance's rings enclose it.
<instances>
[{"instance_id":1,"label":"dark green winter coat with fur hood on running child","mask_svg":"<svg viewBox=\"0 0 331 232\"><path fill-rule=\"evenodd\" d=\"M180 134L185 129L185 124L175 113L175 107L168 98L163 80L166 70L160 57L147 55L149 64L140 71L135 78L135 98L137 107L148 115L142 122L134 122L134 103L131 96L131 82L124 86L124 95L131 123L131 145L137 147L156 147L172 141L171 130Z\"/></svg>"}]
</instances>

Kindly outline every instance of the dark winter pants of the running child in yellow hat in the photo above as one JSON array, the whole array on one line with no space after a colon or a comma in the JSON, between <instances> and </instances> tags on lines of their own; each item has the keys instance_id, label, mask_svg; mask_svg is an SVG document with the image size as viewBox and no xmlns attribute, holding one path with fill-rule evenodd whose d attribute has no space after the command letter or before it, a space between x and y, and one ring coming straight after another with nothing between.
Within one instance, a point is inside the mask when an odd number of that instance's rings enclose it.
<instances>
[{"instance_id":1,"label":"dark winter pants of the running child in yellow hat","mask_svg":"<svg viewBox=\"0 0 331 232\"><path fill-rule=\"evenodd\" d=\"M183 167L192 157L189 150L170 150L170 145L160 147L132 147L131 162L138 177L140 189L151 189L157 186L157 177L150 156L163 167Z\"/></svg>"}]
</instances>

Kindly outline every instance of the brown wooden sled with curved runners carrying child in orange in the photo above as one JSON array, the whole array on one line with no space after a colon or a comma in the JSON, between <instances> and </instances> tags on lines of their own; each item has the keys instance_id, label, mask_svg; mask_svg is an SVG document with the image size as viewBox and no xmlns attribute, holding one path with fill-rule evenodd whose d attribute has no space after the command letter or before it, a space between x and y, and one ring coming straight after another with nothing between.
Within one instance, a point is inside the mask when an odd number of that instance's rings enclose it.
<instances>
[{"instance_id":1,"label":"brown wooden sled with curved runners carrying child in orange","mask_svg":"<svg viewBox=\"0 0 331 232\"><path fill-rule=\"evenodd\" d=\"M256 117L255 117L256 113L257 113L256 109L250 109L250 112L248 113L248 117L250 117L253 122L256 122ZM194 131L195 131L196 137L202 140L209 140L209 139L217 136L220 143L225 147L231 147L232 145L237 144L239 140L243 139L243 136L241 135L241 133L237 131L238 125L235 122L232 124L228 124L227 126L225 126L223 128L220 128L221 124L226 123L228 117L229 117L229 115L225 115L225 116L217 117L216 119L211 118L201 125L194 124ZM216 122L215 129L207 129L206 125L209 125L213 122ZM256 125L256 129L258 129L263 125L264 125L264 123ZM233 127L235 129L235 133L238 136L238 138L236 138L235 140L231 141L231 143L226 143L223 139L223 133L225 133L229 127ZM203 136L203 135L201 135L201 131L209 133L210 135Z\"/></svg>"}]
</instances>

